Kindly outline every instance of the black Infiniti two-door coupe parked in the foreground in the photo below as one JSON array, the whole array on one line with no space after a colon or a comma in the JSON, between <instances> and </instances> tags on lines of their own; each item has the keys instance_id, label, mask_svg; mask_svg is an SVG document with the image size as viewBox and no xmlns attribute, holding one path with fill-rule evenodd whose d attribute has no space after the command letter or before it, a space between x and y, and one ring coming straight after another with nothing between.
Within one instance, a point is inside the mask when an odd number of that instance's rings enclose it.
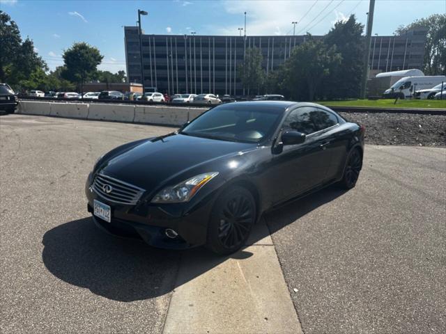
<instances>
[{"instance_id":1,"label":"black Infiniti two-door coupe parked in the foreground","mask_svg":"<svg viewBox=\"0 0 446 334\"><path fill-rule=\"evenodd\" d=\"M178 131L101 157L86 181L101 228L164 248L238 250L267 209L335 182L355 186L364 127L325 106L217 106Z\"/></svg>"}]
</instances>

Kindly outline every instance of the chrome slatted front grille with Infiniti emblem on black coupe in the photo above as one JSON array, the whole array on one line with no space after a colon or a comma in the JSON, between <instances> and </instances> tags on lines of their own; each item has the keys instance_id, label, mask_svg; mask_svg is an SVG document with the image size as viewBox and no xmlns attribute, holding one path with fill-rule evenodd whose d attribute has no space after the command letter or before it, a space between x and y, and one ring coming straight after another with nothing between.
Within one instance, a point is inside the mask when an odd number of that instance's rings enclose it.
<instances>
[{"instance_id":1,"label":"chrome slatted front grille with Infiniti emblem on black coupe","mask_svg":"<svg viewBox=\"0 0 446 334\"><path fill-rule=\"evenodd\" d=\"M91 188L95 193L98 193L98 195L110 202L131 205L136 204L144 193L144 189L138 186L116 180L114 177L109 177L102 173L95 176Z\"/></svg>"}]
</instances>

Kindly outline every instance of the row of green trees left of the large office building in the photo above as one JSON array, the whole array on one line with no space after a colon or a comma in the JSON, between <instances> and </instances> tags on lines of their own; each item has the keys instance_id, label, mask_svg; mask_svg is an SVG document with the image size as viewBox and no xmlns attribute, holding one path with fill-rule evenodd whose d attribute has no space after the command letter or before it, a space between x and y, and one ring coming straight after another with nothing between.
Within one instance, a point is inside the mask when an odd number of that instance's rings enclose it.
<instances>
[{"instance_id":1,"label":"row of green trees left of the large office building","mask_svg":"<svg viewBox=\"0 0 446 334\"><path fill-rule=\"evenodd\" d=\"M17 92L36 89L45 92L83 91L89 81L125 82L125 72L98 70L104 56L96 47L76 42L63 51L63 65L49 71L30 38L22 40L20 30L10 16L0 10L0 82Z\"/></svg>"}]
</instances>

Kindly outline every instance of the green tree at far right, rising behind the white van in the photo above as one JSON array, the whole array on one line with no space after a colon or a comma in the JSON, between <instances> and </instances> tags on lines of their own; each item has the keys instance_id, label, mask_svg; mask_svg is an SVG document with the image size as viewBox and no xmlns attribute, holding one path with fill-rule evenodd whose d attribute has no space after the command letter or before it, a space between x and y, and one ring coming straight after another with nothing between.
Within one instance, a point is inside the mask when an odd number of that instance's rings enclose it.
<instances>
[{"instance_id":1,"label":"green tree at far right, rising behind the white van","mask_svg":"<svg viewBox=\"0 0 446 334\"><path fill-rule=\"evenodd\" d=\"M423 72L426 75L446 75L446 14L433 14L417 19L407 26L399 26L396 35L405 35L412 29L427 29Z\"/></svg>"}]
</instances>

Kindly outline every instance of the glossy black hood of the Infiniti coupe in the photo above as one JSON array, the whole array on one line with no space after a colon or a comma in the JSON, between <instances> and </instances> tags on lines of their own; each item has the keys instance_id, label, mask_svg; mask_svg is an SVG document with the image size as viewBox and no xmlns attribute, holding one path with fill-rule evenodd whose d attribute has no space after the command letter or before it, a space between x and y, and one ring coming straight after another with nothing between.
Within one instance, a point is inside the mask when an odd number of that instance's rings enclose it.
<instances>
[{"instance_id":1,"label":"glossy black hood of the Infiniti coupe","mask_svg":"<svg viewBox=\"0 0 446 334\"><path fill-rule=\"evenodd\" d=\"M100 171L118 180L151 191L199 166L229 159L240 151L256 148L252 143L234 143L208 138L170 134L143 141L122 154L102 162ZM197 168L197 170L200 168ZM206 173L219 170L199 170ZM192 177L194 175L185 175ZM178 180L180 182L182 180Z\"/></svg>"}]
</instances>

